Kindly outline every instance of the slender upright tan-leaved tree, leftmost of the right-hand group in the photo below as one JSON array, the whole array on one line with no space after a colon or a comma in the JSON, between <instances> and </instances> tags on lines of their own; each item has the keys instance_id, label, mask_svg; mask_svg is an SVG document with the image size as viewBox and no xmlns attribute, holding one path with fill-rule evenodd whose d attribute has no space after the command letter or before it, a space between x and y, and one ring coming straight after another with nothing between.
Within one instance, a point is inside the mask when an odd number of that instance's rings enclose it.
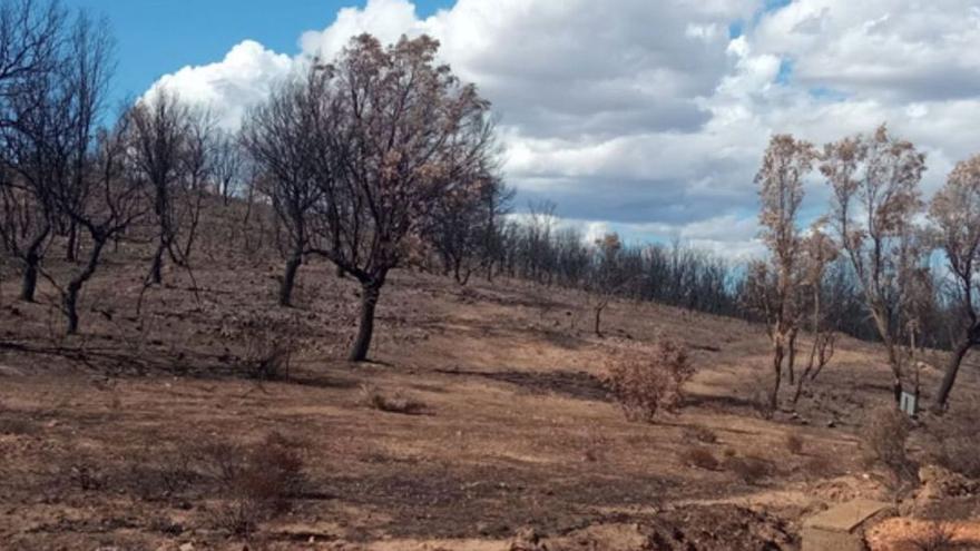
<instances>
[{"instance_id":1,"label":"slender upright tan-leaved tree, leftmost of the right-hand group","mask_svg":"<svg viewBox=\"0 0 980 551\"><path fill-rule=\"evenodd\" d=\"M803 201L803 178L813 168L816 151L807 141L790 135L774 136L755 177L759 186L759 224L762 237L770 252L771 270L756 267L755 283L771 289L761 289L764 297L768 334L773 345L773 386L770 409L778 405L783 363L793 383L796 356L796 336L803 312L798 299L800 245L797 227L800 205Z\"/></svg>"}]
</instances>

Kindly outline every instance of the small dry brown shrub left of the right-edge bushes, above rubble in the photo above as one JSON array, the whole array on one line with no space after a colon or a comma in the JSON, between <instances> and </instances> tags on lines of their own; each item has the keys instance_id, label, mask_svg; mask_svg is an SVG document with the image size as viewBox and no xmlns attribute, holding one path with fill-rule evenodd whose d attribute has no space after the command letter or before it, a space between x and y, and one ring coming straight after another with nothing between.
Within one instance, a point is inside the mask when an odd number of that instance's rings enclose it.
<instances>
[{"instance_id":1,"label":"small dry brown shrub left of the right-edge bushes, above rubble","mask_svg":"<svg viewBox=\"0 0 980 551\"><path fill-rule=\"evenodd\" d=\"M905 449L911 431L909 419L894 406L872 410L861 434L865 463L884 466L896 483L913 479L915 469Z\"/></svg>"}]
</instances>

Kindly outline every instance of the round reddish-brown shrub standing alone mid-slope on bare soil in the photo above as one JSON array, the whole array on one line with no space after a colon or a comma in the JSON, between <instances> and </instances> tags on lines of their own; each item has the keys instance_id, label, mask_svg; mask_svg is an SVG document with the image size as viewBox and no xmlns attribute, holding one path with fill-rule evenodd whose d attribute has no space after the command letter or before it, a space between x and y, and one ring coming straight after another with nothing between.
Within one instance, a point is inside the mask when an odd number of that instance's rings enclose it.
<instances>
[{"instance_id":1,"label":"round reddish-brown shrub standing alone mid-slope on bare soil","mask_svg":"<svg viewBox=\"0 0 980 551\"><path fill-rule=\"evenodd\" d=\"M607 383L630 421L653 421L658 411L674 412L683 386L695 374L687 348L660 338L649 356L614 358Z\"/></svg>"}]
</instances>

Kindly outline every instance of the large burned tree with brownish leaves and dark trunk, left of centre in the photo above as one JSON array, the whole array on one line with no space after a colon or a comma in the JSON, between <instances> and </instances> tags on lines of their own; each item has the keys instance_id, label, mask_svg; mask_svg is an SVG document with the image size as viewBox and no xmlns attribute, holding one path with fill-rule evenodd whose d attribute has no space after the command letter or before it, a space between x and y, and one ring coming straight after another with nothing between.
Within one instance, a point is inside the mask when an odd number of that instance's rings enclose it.
<instances>
[{"instance_id":1,"label":"large burned tree with brownish leaves and dark trunk, left of centre","mask_svg":"<svg viewBox=\"0 0 980 551\"><path fill-rule=\"evenodd\" d=\"M330 149L341 174L320 179L336 208L318 253L361 284L355 362L367 357L381 288L410 236L422 237L440 201L491 165L489 104L437 65L438 48L424 36L382 47L363 35L333 67L342 112Z\"/></svg>"}]
</instances>

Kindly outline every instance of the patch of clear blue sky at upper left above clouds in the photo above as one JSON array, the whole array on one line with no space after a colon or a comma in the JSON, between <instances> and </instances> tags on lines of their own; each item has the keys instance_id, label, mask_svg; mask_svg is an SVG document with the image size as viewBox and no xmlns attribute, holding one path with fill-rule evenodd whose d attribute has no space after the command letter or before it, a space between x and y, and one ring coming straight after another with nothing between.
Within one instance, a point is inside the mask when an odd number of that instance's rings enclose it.
<instances>
[{"instance_id":1,"label":"patch of clear blue sky at upper left above clouds","mask_svg":"<svg viewBox=\"0 0 980 551\"><path fill-rule=\"evenodd\" d=\"M345 7L363 0L62 0L109 19L116 36L114 96L146 91L161 75L222 59L234 45L253 39L281 53L298 51L303 31L321 30ZM428 17L451 0L416 0Z\"/></svg>"}]
</instances>

